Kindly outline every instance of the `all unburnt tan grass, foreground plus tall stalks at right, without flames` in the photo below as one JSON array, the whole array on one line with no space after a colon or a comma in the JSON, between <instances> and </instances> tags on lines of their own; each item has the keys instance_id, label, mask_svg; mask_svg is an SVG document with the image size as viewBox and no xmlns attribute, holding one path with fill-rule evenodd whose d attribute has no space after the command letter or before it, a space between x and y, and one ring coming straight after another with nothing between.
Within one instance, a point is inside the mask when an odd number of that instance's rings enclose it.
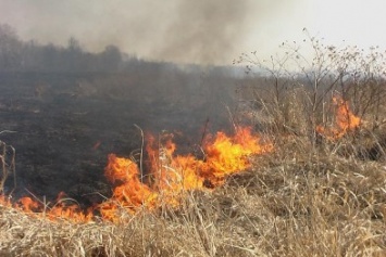
<instances>
[{"instance_id":1,"label":"all unburnt tan grass, foreground plus tall stalks at right, without flames","mask_svg":"<svg viewBox=\"0 0 386 257\"><path fill-rule=\"evenodd\" d=\"M312 46L324 56L334 50ZM0 206L0 255L386 256L386 101L378 100L385 85L365 73L365 79L343 80L351 64L328 77L344 64L333 57L339 62L320 63L319 74L299 79L272 70L263 81L258 78L248 88L252 104L242 111L275 151L251 156L251 168L225 185L186 192L177 208L122 211L119 223L52 222ZM374 93L360 91L369 87ZM316 134L315 126L332 125L329 98L336 91L352 100L364 121L332 141Z\"/></svg>"}]
</instances>

